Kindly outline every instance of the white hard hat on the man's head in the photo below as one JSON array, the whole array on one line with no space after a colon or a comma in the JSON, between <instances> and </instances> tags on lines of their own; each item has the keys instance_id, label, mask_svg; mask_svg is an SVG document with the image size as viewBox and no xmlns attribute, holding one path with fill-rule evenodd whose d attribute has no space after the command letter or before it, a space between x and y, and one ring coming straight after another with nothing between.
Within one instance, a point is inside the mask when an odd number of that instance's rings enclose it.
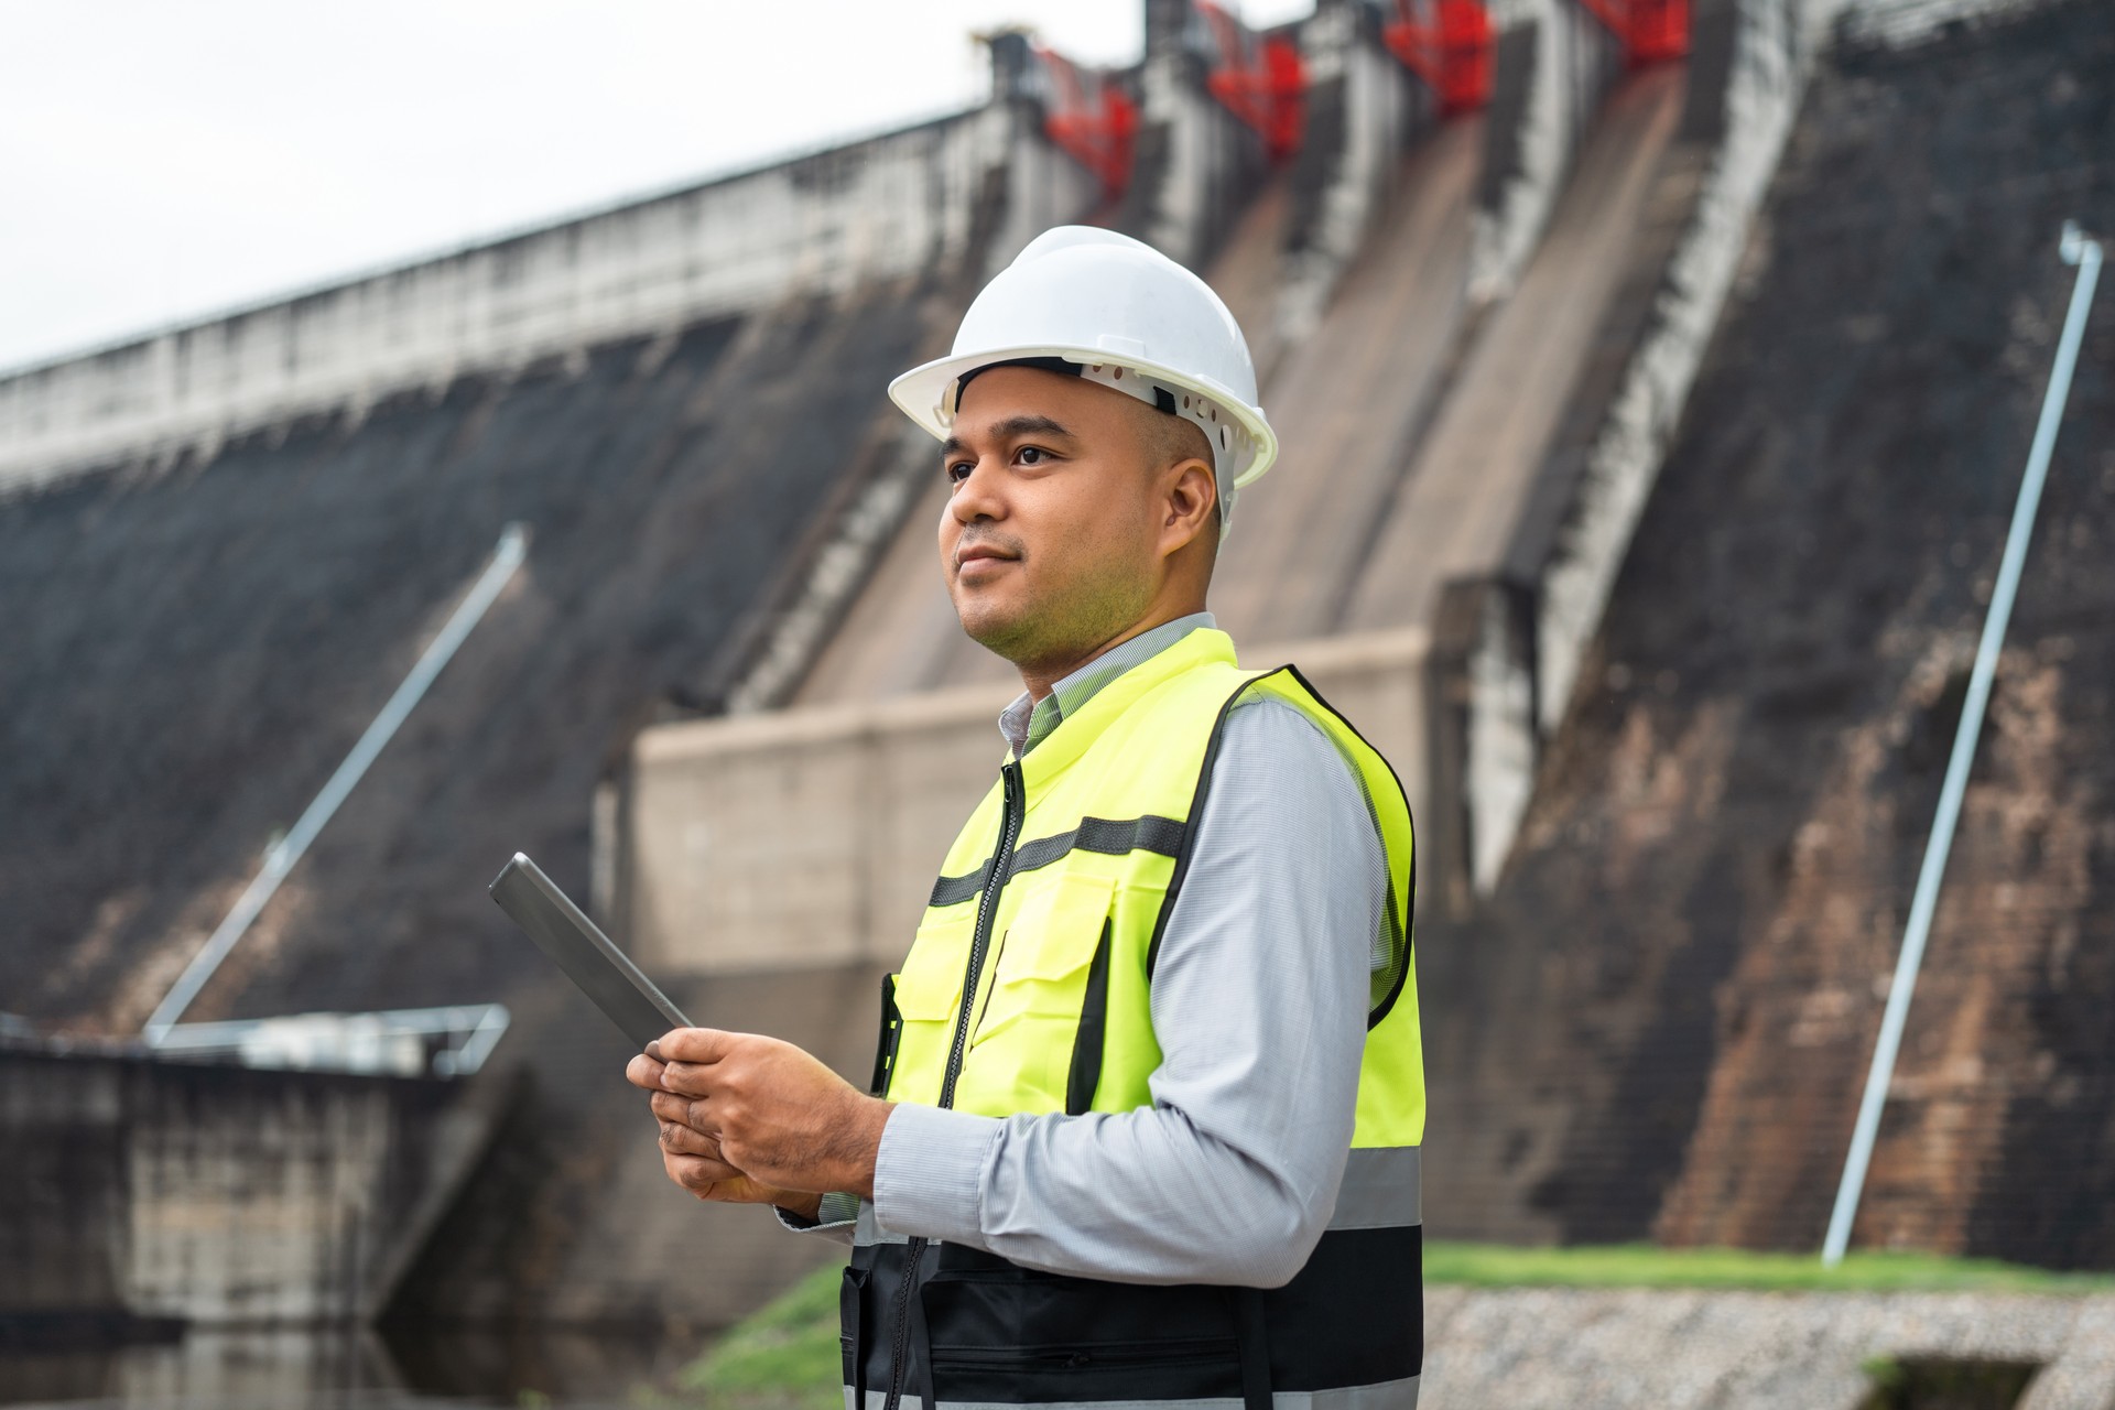
<instances>
[{"instance_id":1,"label":"white hard hat on the man's head","mask_svg":"<svg viewBox=\"0 0 2115 1410\"><path fill-rule=\"evenodd\" d=\"M1222 505L1277 459L1256 364L1227 304L1153 245L1093 226L1032 239L962 315L954 351L888 383L888 395L945 440L967 374L1043 357L1195 423L1212 444Z\"/></svg>"}]
</instances>

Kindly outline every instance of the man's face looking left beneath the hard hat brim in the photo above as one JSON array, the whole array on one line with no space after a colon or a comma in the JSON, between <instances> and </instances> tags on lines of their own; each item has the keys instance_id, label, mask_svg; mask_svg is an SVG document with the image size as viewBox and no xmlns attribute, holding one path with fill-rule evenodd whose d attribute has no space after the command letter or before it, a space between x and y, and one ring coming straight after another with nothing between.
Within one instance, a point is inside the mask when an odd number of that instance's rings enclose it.
<instances>
[{"instance_id":1,"label":"man's face looking left beneath the hard hat brim","mask_svg":"<svg viewBox=\"0 0 2115 1410\"><path fill-rule=\"evenodd\" d=\"M1108 643L1153 602L1165 505L1144 404L1058 372L971 381L941 450L939 562L962 630L1015 664Z\"/></svg>"}]
</instances>

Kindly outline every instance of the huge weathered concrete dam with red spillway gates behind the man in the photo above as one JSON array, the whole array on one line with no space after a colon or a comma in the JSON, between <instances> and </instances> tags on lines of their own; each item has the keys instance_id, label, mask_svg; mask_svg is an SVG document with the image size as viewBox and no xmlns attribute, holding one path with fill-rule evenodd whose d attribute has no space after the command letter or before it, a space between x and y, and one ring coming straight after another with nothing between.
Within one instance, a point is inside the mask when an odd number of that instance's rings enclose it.
<instances>
[{"instance_id":1,"label":"huge weathered concrete dam with red spillway gates behind the man","mask_svg":"<svg viewBox=\"0 0 2115 1410\"><path fill-rule=\"evenodd\" d=\"M700 1021L865 1082L1017 689L884 387L1064 222L1189 262L1256 351L1286 454L1212 607L1411 793L1432 1237L1819 1247L2058 228L2115 233L2115 17L1144 19L1121 72L998 34L975 110L0 374L0 1366L237 1325L683 1340L831 1254L664 1180L624 1040L482 890L529 852ZM1863 1247L2115 1268L2092 313ZM144 1042L508 524L520 571L184 1015L503 1004L497 1046Z\"/></svg>"}]
</instances>

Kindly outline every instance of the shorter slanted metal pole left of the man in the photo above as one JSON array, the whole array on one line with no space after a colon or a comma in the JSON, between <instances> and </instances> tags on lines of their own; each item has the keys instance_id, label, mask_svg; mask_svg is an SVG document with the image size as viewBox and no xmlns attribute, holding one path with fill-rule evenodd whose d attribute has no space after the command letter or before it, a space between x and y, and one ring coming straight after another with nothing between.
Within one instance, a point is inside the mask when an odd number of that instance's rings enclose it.
<instances>
[{"instance_id":1,"label":"shorter slanted metal pole left of the man","mask_svg":"<svg viewBox=\"0 0 2115 1410\"><path fill-rule=\"evenodd\" d=\"M324 791L317 793L315 801L300 814L294 829L264 854L264 867L258 869L258 875L243 890L241 898L237 898L235 909L228 911L226 920L222 920L214 934L205 941L205 947L192 956L190 964L184 966L184 972L178 975L169 994L165 994L161 1004L154 1006L154 1013L148 1017L144 1029L148 1044L159 1046L163 1036L167 1036L169 1025L173 1025L184 1010L190 1008L190 1000L199 998L199 989L203 989L214 977L220 962L228 958L235 943L243 939L243 932L250 930L250 924L273 898L273 892L279 890L279 882L286 879L286 873L292 871L294 862L298 862L302 852L309 850L315 835L324 831L330 816L338 812L338 803L345 801L345 795L353 791L353 784L357 784L368 772L368 765L383 753L383 746L389 744L398 725L404 723L404 719L412 712L412 706L417 706L427 687L434 685L434 676L440 674L440 668L448 664L448 657L455 655L457 647L463 645L472 628L478 626L484 611L499 596L499 590L508 586L508 579L514 577L514 569L522 564L527 554L529 531L522 524L508 524L499 535L499 545L493 548L493 560L470 588L470 596L465 596L461 605L457 605L455 613L448 615L448 624L440 628L440 634L419 657L419 664L412 666L410 674L404 676L404 683L396 687L396 693L389 695L381 715L374 717L368 731L360 736L357 744L353 744L353 753L345 755L345 763L338 765L338 772L330 776Z\"/></svg>"}]
</instances>

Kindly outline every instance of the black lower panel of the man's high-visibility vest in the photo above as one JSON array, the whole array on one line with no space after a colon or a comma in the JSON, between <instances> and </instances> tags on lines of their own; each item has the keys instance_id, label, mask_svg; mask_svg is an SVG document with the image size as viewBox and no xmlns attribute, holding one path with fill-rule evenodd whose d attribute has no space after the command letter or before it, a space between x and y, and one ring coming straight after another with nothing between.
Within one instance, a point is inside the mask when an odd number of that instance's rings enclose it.
<instances>
[{"instance_id":1,"label":"black lower panel of the man's high-visibility vest","mask_svg":"<svg viewBox=\"0 0 2115 1410\"><path fill-rule=\"evenodd\" d=\"M1271 1387L1379 1385L1423 1366L1419 1228L1322 1235L1265 1294ZM952 1243L920 1260L909 1325L895 1325L905 1245L854 1254L844 1298L846 1380L886 1391L903 1347L909 1395L1049 1404L1242 1397L1237 1290L1148 1287L1034 1273Z\"/></svg>"}]
</instances>

